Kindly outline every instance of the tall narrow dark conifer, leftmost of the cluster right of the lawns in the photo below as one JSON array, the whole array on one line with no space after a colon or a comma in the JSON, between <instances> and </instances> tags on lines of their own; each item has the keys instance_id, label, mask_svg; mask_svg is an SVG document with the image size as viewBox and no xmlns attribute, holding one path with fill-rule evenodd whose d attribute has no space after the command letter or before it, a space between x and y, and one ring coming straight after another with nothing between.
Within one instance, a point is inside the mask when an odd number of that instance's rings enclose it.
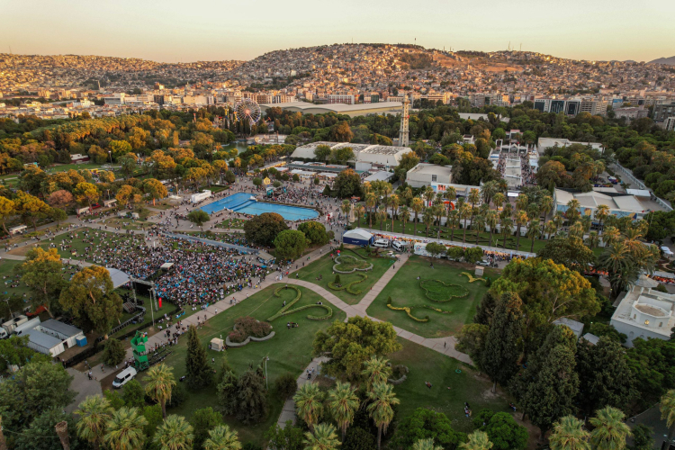
<instances>
[{"instance_id":1,"label":"tall narrow dark conifer, leftmost of the cluster right of the lawns","mask_svg":"<svg viewBox=\"0 0 675 450\"><path fill-rule=\"evenodd\" d=\"M497 383L506 384L518 373L524 324L522 304L517 293L503 293L495 307L481 355L482 370L494 383L492 392Z\"/></svg>"}]
</instances>

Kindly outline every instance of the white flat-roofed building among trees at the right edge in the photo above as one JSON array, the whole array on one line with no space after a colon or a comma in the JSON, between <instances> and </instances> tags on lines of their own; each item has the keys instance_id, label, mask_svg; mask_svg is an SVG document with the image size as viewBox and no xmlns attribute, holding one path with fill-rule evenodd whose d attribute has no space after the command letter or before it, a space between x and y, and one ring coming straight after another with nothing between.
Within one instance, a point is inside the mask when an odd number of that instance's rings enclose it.
<instances>
[{"instance_id":1,"label":"white flat-roofed building among trees at the right edge","mask_svg":"<svg viewBox=\"0 0 675 450\"><path fill-rule=\"evenodd\" d=\"M653 288L657 285L646 275L640 275L612 315L609 323L628 337L628 347L633 347L636 338L671 338L671 329L675 327L675 295L655 291Z\"/></svg>"}]
</instances>

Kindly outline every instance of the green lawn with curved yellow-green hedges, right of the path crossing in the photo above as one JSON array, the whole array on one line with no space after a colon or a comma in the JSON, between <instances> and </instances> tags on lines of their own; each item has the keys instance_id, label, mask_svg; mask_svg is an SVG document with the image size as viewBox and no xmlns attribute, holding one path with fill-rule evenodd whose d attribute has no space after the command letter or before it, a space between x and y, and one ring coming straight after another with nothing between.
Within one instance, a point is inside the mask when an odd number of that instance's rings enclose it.
<instances>
[{"instance_id":1,"label":"green lawn with curved yellow-green hedges, right of the path crossing","mask_svg":"<svg viewBox=\"0 0 675 450\"><path fill-rule=\"evenodd\" d=\"M430 261L434 263L433 269L429 266ZM392 322L397 327L407 329L424 338L453 336L465 323L473 320L476 305L481 302L483 294L488 290L481 281L469 283L467 276L460 275L462 272L473 275L473 266L442 259L432 260L427 257L411 256L370 305L367 310L368 315ZM488 268L485 269L483 275L483 277L490 277L492 281L498 276L498 271ZM439 300L449 298L450 300L434 302L429 299L425 290L420 286L420 282L424 280L430 280L425 287L428 288L433 298ZM433 280L443 283L435 283ZM391 310L387 307L387 299L390 296L392 306L415 307L411 311L413 316L419 319L425 319L428 316L429 320L419 322L410 319L406 311ZM422 308L422 305L451 312L437 312Z\"/></svg>"}]
</instances>

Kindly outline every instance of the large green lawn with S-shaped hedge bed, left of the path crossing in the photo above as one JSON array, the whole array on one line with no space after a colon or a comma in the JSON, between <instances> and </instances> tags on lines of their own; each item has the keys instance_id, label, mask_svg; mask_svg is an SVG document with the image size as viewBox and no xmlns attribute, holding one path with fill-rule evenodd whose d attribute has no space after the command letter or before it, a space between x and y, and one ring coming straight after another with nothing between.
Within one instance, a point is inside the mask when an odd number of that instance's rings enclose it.
<instances>
[{"instance_id":1,"label":"large green lawn with S-shaped hedge bed, left of the path crossing","mask_svg":"<svg viewBox=\"0 0 675 450\"><path fill-rule=\"evenodd\" d=\"M257 320L266 320L282 308L284 300L290 302L295 296L293 290L283 290L281 297L274 295L277 287L284 284L274 284L263 291L252 295L247 300L238 303L221 312L208 320L207 324L199 329L199 336L202 344L206 346L211 338L225 338L234 325L238 317L251 316ZM302 297L293 305L293 309L299 306L315 304L322 301L329 305L329 302L322 299L318 294L308 289L300 288ZM345 313L338 308L331 306L333 317L330 320L308 320L308 314L320 315L323 313L320 309L310 308L308 310L298 311L289 314L272 322L275 330L275 337L265 342L251 342L245 347L230 348L227 352L218 353L208 351L208 357L216 358L216 367L220 365L220 360L227 356L229 364L237 372L242 374L248 369L249 365L257 366L264 356L269 356L267 362L267 374L270 387L270 410L267 419L257 426L246 427L238 423L234 418L226 418L226 422L238 430L239 439L246 443L252 441L257 445L263 444L263 434L268 428L276 423L281 413L284 399L278 398L274 392L275 380L281 374L291 372L294 376L300 376L302 371L311 362L311 343L314 335L320 329L329 327L333 320L345 320ZM286 322L292 321L299 324L298 328L287 329ZM180 341L177 347L171 347L174 354L166 359L166 364L174 367L175 378L178 379L185 374L185 355L186 339ZM139 377L142 381L143 376ZM194 410L206 407L217 407L218 400L215 395L215 388L209 387L199 392L188 392L186 400L179 407L170 409L171 414L183 415L190 418Z\"/></svg>"}]
</instances>

